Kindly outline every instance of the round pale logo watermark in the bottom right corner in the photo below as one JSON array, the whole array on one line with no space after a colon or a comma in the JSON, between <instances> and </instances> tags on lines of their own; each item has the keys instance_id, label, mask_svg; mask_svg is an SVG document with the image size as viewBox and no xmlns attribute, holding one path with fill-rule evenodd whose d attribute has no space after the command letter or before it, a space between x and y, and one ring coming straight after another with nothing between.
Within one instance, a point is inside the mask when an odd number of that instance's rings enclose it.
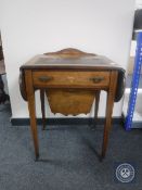
<instances>
[{"instance_id":1,"label":"round pale logo watermark in the bottom right corner","mask_svg":"<svg viewBox=\"0 0 142 190\"><path fill-rule=\"evenodd\" d=\"M131 164L124 163L118 165L115 174L120 182L131 182L134 179L134 167Z\"/></svg>"}]
</instances>

